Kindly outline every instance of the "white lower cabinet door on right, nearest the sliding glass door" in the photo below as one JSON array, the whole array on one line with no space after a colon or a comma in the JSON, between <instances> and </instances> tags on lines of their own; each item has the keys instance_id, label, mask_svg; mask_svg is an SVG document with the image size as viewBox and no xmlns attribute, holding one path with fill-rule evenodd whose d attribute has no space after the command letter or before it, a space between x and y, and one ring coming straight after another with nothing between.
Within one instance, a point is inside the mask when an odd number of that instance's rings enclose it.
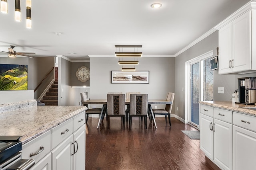
<instances>
[{"instance_id":1,"label":"white lower cabinet door on right, nearest the sliding glass door","mask_svg":"<svg viewBox=\"0 0 256 170\"><path fill-rule=\"evenodd\" d=\"M211 159L213 159L213 118L200 114L200 149Z\"/></svg>"}]
</instances>

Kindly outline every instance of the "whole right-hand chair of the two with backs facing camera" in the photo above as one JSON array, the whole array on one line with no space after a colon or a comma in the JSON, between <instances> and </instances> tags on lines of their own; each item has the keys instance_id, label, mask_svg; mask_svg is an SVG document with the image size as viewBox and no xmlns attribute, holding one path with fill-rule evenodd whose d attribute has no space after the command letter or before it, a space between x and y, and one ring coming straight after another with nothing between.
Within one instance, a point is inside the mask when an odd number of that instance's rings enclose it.
<instances>
[{"instance_id":1,"label":"whole right-hand chair of the two with backs facing camera","mask_svg":"<svg viewBox=\"0 0 256 170\"><path fill-rule=\"evenodd\" d=\"M129 127L132 129L132 117L144 117L147 129L148 94L130 94Z\"/></svg>"}]
</instances>

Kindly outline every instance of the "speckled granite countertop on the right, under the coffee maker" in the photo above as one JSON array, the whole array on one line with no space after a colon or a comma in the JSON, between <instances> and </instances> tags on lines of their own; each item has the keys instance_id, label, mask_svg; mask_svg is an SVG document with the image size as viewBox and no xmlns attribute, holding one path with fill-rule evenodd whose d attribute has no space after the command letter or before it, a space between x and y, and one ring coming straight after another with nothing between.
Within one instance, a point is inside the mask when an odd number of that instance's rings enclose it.
<instances>
[{"instance_id":1,"label":"speckled granite countertop on the right, under the coffee maker","mask_svg":"<svg viewBox=\"0 0 256 170\"><path fill-rule=\"evenodd\" d=\"M254 105L237 104L229 101L200 101L199 103L208 105L208 106L222 108L222 109L228 109L231 111L236 111L236 112L244 113L247 115L256 116L256 110L243 108L243 107L256 107Z\"/></svg>"}]
</instances>

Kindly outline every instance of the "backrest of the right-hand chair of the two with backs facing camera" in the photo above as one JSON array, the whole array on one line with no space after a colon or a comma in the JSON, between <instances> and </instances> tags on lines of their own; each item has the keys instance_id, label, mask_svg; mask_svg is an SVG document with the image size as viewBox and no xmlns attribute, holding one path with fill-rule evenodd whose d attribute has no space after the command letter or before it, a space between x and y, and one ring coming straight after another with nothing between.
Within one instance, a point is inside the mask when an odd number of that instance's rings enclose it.
<instances>
[{"instance_id":1,"label":"backrest of the right-hand chair of the two with backs facing camera","mask_svg":"<svg viewBox=\"0 0 256 170\"><path fill-rule=\"evenodd\" d=\"M130 115L147 115L148 94L130 94Z\"/></svg>"}]
</instances>

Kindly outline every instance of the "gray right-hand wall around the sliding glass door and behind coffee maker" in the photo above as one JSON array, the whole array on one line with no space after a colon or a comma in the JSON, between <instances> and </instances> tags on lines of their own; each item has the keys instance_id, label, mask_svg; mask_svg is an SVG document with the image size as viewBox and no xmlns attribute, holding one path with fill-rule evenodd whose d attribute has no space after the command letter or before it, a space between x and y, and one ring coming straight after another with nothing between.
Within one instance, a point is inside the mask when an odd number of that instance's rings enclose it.
<instances>
[{"instance_id":1,"label":"gray right-hand wall around the sliding glass door and behind coffee maker","mask_svg":"<svg viewBox=\"0 0 256 170\"><path fill-rule=\"evenodd\" d=\"M175 58L175 114L185 119L185 63L208 51L213 50L213 56L217 55L218 31L215 31L190 49L184 51ZM214 94L213 99L218 101L231 101L232 93L238 88L238 77L256 76L250 74L225 74L219 75L218 70L214 70ZM218 94L218 87L224 87L224 94ZM178 107L178 111L177 111Z\"/></svg>"}]
</instances>

